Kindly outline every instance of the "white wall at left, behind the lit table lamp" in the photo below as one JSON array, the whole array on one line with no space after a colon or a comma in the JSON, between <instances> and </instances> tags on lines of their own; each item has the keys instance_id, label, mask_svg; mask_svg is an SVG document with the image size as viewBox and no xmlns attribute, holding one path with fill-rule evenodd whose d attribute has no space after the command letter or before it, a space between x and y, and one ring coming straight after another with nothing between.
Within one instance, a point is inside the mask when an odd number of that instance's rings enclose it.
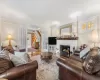
<instances>
[{"instance_id":1,"label":"white wall at left, behind the lit table lamp","mask_svg":"<svg viewBox=\"0 0 100 80\"><path fill-rule=\"evenodd\" d=\"M9 34L12 35L14 41L20 49L26 48L26 25L1 18L1 42L7 39Z\"/></svg>"}]
</instances>

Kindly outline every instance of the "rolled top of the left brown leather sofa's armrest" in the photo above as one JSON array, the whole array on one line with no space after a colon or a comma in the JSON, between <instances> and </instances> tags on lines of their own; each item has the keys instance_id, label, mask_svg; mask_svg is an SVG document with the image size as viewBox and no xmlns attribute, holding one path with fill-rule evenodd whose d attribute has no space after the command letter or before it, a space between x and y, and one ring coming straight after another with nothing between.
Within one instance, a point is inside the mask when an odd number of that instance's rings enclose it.
<instances>
[{"instance_id":1,"label":"rolled top of the left brown leather sofa's armrest","mask_svg":"<svg viewBox=\"0 0 100 80\"><path fill-rule=\"evenodd\" d=\"M27 73L36 71L37 68L38 68L37 61L32 61L30 63L23 64L7 70L6 72L0 74L0 78L15 79Z\"/></svg>"}]
</instances>

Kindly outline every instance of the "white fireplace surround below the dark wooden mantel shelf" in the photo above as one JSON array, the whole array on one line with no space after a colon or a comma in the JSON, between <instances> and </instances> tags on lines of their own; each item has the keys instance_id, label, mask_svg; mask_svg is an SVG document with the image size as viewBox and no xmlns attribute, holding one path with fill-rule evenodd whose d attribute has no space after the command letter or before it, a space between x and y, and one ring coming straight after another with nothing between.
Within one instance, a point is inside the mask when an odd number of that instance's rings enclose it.
<instances>
[{"instance_id":1,"label":"white fireplace surround below the dark wooden mantel shelf","mask_svg":"<svg viewBox=\"0 0 100 80\"><path fill-rule=\"evenodd\" d=\"M73 52L73 47L77 48L77 40L57 40L57 51L56 54L60 56L60 45L69 45L70 51Z\"/></svg>"}]
</instances>

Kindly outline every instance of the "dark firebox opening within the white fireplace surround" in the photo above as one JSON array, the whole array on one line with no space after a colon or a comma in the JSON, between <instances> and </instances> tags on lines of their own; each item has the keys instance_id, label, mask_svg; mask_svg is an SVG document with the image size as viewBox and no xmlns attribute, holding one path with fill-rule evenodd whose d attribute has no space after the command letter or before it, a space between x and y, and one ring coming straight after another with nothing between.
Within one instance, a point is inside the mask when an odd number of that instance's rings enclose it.
<instances>
[{"instance_id":1,"label":"dark firebox opening within the white fireplace surround","mask_svg":"<svg viewBox=\"0 0 100 80\"><path fill-rule=\"evenodd\" d=\"M60 45L60 56L69 57L70 56L70 46Z\"/></svg>"}]
</instances>

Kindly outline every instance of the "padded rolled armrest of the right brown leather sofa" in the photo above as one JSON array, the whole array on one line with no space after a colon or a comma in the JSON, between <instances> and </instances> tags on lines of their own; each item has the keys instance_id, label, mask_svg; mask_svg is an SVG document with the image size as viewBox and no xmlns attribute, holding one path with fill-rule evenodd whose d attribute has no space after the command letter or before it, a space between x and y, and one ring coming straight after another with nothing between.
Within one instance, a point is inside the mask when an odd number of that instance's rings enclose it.
<instances>
[{"instance_id":1,"label":"padded rolled armrest of the right brown leather sofa","mask_svg":"<svg viewBox=\"0 0 100 80\"><path fill-rule=\"evenodd\" d=\"M80 67L81 64L80 62L77 63L74 62L74 60L72 59L58 59L57 60L57 65L59 66L59 68L63 67L65 70L67 70L69 73L74 74L74 75L78 75L79 77L81 77L82 75L82 68Z\"/></svg>"}]
</instances>

